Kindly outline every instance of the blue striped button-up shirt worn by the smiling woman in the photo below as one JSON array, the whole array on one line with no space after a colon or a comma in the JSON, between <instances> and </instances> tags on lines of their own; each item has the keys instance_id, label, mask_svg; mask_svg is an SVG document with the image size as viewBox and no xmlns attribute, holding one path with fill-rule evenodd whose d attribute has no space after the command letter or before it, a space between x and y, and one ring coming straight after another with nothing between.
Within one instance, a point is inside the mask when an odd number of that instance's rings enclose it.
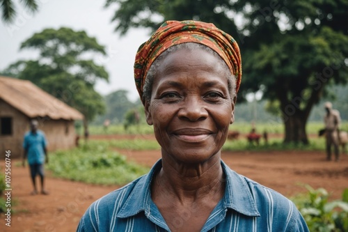
<instances>
[{"instance_id":1,"label":"blue striped button-up shirt worn by the smiling woman","mask_svg":"<svg viewBox=\"0 0 348 232\"><path fill-rule=\"evenodd\" d=\"M294 203L285 196L232 171L221 161L226 175L226 191L201 231L280 232L308 231ZM161 160L145 176L92 203L77 231L170 231L151 199L151 180L161 169ZM190 215L173 218L180 224Z\"/></svg>"}]
</instances>

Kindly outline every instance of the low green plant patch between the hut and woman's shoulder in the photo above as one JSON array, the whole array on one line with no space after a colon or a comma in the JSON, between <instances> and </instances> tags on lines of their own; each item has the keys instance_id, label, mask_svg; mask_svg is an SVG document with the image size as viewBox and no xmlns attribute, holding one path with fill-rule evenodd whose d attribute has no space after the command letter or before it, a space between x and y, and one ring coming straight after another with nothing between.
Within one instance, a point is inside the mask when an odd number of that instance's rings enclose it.
<instances>
[{"instance_id":1,"label":"low green plant patch between the hut and woman's shoulder","mask_svg":"<svg viewBox=\"0 0 348 232\"><path fill-rule=\"evenodd\" d=\"M103 185L124 185L148 172L109 150L108 144L93 141L53 153L47 167L57 177Z\"/></svg>"}]
</instances>

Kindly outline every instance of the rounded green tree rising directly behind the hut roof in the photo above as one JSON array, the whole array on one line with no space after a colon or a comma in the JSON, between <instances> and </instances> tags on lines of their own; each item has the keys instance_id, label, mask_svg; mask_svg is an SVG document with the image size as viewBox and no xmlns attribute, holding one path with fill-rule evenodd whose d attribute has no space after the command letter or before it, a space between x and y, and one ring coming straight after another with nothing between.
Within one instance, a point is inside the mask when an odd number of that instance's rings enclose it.
<instances>
[{"instance_id":1,"label":"rounded green tree rising directly behind the hut roof","mask_svg":"<svg viewBox=\"0 0 348 232\"><path fill-rule=\"evenodd\" d=\"M94 85L97 79L108 81L109 75L92 59L106 55L95 38L65 27L45 29L22 42L21 49L35 49L38 59L17 61L3 71L4 75L28 79L81 111L85 130L88 121L104 113L104 101Z\"/></svg>"}]
</instances>

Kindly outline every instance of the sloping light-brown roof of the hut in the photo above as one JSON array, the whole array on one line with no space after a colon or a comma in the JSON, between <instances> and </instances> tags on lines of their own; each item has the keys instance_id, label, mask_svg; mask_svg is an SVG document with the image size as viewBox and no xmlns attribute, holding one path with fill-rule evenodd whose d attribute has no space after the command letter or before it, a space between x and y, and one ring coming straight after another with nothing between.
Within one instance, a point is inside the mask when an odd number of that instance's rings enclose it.
<instances>
[{"instance_id":1,"label":"sloping light-brown roof of the hut","mask_svg":"<svg viewBox=\"0 0 348 232\"><path fill-rule=\"evenodd\" d=\"M79 120L84 115L77 109L43 91L30 81L0 76L0 99L30 118Z\"/></svg>"}]
</instances>

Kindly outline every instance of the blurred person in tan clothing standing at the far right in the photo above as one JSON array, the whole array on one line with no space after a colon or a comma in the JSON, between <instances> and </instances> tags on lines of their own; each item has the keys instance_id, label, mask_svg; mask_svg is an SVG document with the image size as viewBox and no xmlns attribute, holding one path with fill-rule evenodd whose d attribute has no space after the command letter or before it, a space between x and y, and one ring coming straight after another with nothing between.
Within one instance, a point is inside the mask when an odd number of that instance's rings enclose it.
<instances>
[{"instance_id":1,"label":"blurred person in tan clothing standing at the far right","mask_svg":"<svg viewBox=\"0 0 348 232\"><path fill-rule=\"evenodd\" d=\"M331 146L335 152L335 161L340 160L340 151L338 146L340 145L340 112L336 109L332 109L331 102L325 102L324 108L326 114L324 116L325 123L325 138L326 138L326 159L331 160Z\"/></svg>"}]
</instances>

